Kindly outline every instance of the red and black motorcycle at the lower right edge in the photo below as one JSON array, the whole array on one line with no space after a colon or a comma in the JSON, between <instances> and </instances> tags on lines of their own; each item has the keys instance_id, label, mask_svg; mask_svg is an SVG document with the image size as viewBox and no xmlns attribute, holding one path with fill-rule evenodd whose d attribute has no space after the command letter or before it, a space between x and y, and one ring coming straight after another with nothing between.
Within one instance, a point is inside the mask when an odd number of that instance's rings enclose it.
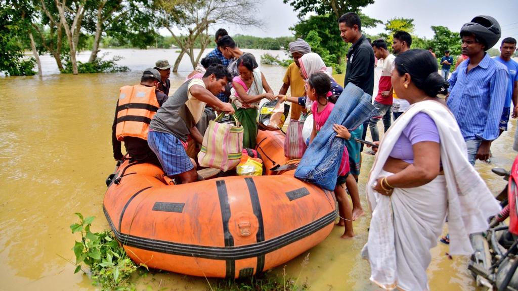
<instances>
[{"instance_id":1,"label":"red and black motorcycle at the lower right edge","mask_svg":"<svg viewBox=\"0 0 518 291\"><path fill-rule=\"evenodd\" d=\"M474 253L468 269L477 285L488 290L518 291L518 156L511 171L502 168L492 171L508 181L496 197L502 211L491 219L485 232L470 236ZM504 221L508 218L506 225Z\"/></svg>"}]
</instances>

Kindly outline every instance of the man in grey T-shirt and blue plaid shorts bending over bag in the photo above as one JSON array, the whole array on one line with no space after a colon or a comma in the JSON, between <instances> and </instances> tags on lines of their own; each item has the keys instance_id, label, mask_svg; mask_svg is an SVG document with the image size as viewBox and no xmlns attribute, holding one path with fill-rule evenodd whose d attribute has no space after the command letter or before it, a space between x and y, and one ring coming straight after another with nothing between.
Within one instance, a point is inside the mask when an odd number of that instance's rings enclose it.
<instances>
[{"instance_id":1,"label":"man in grey T-shirt and blue plaid shorts bending over bag","mask_svg":"<svg viewBox=\"0 0 518 291\"><path fill-rule=\"evenodd\" d=\"M196 167L185 151L187 139L193 127L202 118L205 105L219 111L234 113L229 103L223 103L215 95L225 91L232 81L225 66L213 64L202 79L183 83L156 112L149 126L148 144L159 158L169 178L176 183L197 181Z\"/></svg>"}]
</instances>

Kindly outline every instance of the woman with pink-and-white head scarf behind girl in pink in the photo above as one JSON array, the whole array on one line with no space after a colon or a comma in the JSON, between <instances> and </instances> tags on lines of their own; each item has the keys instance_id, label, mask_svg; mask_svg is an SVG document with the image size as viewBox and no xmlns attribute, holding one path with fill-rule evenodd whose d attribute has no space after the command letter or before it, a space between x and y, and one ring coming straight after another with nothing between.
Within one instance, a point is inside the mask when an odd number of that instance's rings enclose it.
<instances>
[{"instance_id":1,"label":"woman with pink-and-white head scarf behind girl in pink","mask_svg":"<svg viewBox=\"0 0 518 291\"><path fill-rule=\"evenodd\" d=\"M327 67L324 64L322 57L320 57L320 55L317 53L311 52L300 57L298 61L300 64L300 76L306 82L308 81L309 76L311 76L311 74L314 74L315 72L324 72L329 76L331 82L331 89L327 93L327 97L330 101L336 102L336 100L342 93L343 88L330 76L331 74L329 74L329 72L327 71ZM299 105L305 107L311 107L311 104L309 103L312 103L310 100L307 100L308 105L306 105L306 97L297 98L287 97L285 95L278 95L277 97L281 100L290 101L292 103L298 103ZM338 177L337 181L337 184L343 184L345 182L346 187L349 190L349 194L351 195L351 199L353 202L353 220L356 220L358 217L365 214L362 208L362 204L359 200L358 185L356 183L356 179L359 175L359 168L361 165L360 143L354 140L355 137L362 138L362 133L363 125L360 125L358 128L351 130L352 138L346 140L346 147L349 152L350 172L346 176ZM340 225L343 225L342 223L343 222L340 222Z\"/></svg>"}]
</instances>

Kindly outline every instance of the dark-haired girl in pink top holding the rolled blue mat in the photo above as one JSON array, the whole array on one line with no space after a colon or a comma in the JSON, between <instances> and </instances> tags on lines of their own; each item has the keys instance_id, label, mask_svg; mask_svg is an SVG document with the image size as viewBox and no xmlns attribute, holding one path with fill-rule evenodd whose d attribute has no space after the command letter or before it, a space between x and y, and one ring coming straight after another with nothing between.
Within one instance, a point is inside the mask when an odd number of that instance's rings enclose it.
<instances>
[{"instance_id":1,"label":"dark-haired girl in pink top holding the rolled blue mat","mask_svg":"<svg viewBox=\"0 0 518 291\"><path fill-rule=\"evenodd\" d=\"M314 122L313 130L311 132L311 136L309 137L309 143L311 143L322 126L324 126L327 118L329 117L329 114L331 114L331 111L333 111L335 105L327 100L327 96L331 94L329 92L331 89L331 82L329 76L327 76L324 72L315 72L311 74L308 78L307 84L308 86L306 93L308 98L313 102L313 105L311 105L311 112L313 113ZM351 138L351 134L345 126L335 124L333 129L335 129L337 137L344 139ZM344 146L342 162L338 170L338 176L346 176L347 173L349 173L349 154L347 152L347 148ZM353 213L351 206L349 205L349 200L347 199L346 190L343 187L344 183L345 180L337 181L335 187L335 196L336 200L338 201L340 224L345 226L342 238L352 238L354 237L352 221Z\"/></svg>"}]
</instances>

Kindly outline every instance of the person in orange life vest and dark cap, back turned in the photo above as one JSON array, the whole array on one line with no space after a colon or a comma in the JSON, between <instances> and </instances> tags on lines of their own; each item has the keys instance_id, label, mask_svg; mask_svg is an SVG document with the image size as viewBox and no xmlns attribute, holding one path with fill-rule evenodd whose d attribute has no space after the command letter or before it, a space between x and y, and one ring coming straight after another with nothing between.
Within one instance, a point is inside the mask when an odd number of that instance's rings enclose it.
<instances>
[{"instance_id":1,"label":"person in orange life vest and dark cap, back turned","mask_svg":"<svg viewBox=\"0 0 518 291\"><path fill-rule=\"evenodd\" d=\"M168 98L157 89L160 82L159 71L147 68L140 78L140 85L120 89L111 134L116 160L123 158L121 141L124 141L126 152L134 161L161 166L147 141L151 118Z\"/></svg>"}]
</instances>

